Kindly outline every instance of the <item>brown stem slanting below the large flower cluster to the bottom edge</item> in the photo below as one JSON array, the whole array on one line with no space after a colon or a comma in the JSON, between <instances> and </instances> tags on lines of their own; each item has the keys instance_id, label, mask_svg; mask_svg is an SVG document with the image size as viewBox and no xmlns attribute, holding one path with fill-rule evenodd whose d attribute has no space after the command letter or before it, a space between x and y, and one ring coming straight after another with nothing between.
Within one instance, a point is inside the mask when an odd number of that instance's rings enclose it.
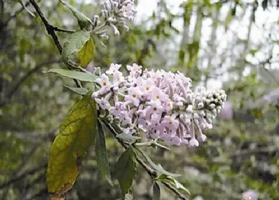
<instances>
[{"instance_id":1,"label":"brown stem slanting below the large flower cluster to the bottom edge","mask_svg":"<svg viewBox=\"0 0 279 200\"><path fill-rule=\"evenodd\" d=\"M115 128L109 124L108 122L106 122L105 120L102 120L102 122L104 122L106 124L106 126L109 128L109 130L113 133L113 135L116 137L116 135L118 134L117 131L115 130ZM118 142L125 148L128 148L128 145L124 142L122 142L119 138L116 137L116 139L118 140ZM138 161L138 163L144 168L144 170L148 173L148 175L151 177L151 179L155 178L157 176L156 171L154 171L153 169L151 169L137 154L136 154L136 159ZM186 197L184 197L176 188L174 188L173 186L171 186L169 183L167 182L163 182L162 184L167 187L169 190L171 190L174 194L176 194L179 199L181 200L188 200Z\"/></svg>"}]
</instances>

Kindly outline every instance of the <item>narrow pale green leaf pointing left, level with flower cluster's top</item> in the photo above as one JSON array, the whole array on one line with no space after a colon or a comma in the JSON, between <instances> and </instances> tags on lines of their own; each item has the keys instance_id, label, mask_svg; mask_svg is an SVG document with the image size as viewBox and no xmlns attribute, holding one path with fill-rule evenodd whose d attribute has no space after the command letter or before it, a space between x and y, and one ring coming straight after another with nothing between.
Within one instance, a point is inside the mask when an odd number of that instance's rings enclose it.
<instances>
[{"instance_id":1,"label":"narrow pale green leaf pointing left, level with flower cluster's top","mask_svg":"<svg viewBox=\"0 0 279 200\"><path fill-rule=\"evenodd\" d=\"M69 70L69 69L60 69L53 68L45 71L44 73L58 73L59 75L75 78L77 80L85 81L85 82L96 82L96 78L98 78L95 74L85 73L81 71Z\"/></svg>"}]
</instances>

